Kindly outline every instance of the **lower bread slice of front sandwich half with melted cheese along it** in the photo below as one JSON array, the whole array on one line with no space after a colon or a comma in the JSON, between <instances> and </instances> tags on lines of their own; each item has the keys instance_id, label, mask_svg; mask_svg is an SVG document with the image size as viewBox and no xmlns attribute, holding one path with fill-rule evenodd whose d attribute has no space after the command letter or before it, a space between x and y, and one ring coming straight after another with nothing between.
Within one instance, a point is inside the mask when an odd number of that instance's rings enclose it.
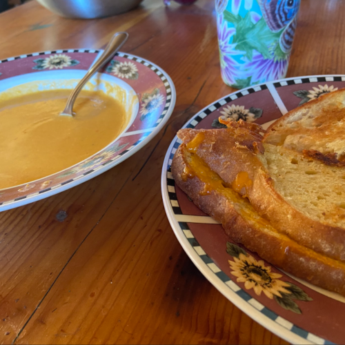
<instances>
[{"instance_id":1,"label":"lower bread slice of front sandwich half with melted cheese along it","mask_svg":"<svg viewBox=\"0 0 345 345\"><path fill-rule=\"evenodd\" d=\"M228 186L185 144L175 152L171 170L177 185L201 210L220 221L235 242L296 277L345 295L344 263L315 253L279 233L248 199Z\"/></svg>"}]
</instances>

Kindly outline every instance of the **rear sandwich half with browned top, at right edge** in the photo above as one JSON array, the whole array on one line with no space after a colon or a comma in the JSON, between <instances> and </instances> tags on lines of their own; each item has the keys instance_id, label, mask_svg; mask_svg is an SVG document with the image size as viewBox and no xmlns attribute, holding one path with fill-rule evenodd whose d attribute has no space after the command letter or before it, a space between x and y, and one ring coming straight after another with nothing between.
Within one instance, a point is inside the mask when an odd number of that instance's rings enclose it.
<instances>
[{"instance_id":1,"label":"rear sandwich half with browned top, at right edge","mask_svg":"<svg viewBox=\"0 0 345 345\"><path fill-rule=\"evenodd\" d=\"M264 142L292 150L315 150L345 161L345 89L304 103L275 121Z\"/></svg>"}]
</instances>

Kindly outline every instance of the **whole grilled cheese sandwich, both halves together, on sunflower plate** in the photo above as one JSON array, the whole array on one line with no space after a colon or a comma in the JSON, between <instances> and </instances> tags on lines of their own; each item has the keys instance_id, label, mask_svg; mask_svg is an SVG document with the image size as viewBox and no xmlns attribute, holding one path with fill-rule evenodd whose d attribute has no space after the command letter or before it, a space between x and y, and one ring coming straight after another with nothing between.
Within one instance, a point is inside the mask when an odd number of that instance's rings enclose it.
<instances>
[{"instance_id":1,"label":"whole grilled cheese sandwich, both halves together, on sunflower plate","mask_svg":"<svg viewBox=\"0 0 345 345\"><path fill-rule=\"evenodd\" d=\"M224 124L177 133L177 185L236 242L345 295L345 89L288 112L266 133Z\"/></svg>"}]
</instances>

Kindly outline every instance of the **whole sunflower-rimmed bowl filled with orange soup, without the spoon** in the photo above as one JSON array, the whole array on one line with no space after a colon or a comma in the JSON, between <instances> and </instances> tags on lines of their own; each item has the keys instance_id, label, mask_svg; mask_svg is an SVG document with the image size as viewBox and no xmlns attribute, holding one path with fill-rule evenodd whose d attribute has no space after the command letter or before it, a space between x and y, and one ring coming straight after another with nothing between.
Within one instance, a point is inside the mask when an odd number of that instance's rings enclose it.
<instances>
[{"instance_id":1,"label":"whole sunflower-rimmed bowl filled with orange soup, without the spoon","mask_svg":"<svg viewBox=\"0 0 345 345\"><path fill-rule=\"evenodd\" d=\"M75 115L61 116L99 52L36 54L0 63L0 210L59 193L119 164L155 136L175 104L166 72L119 53L84 86Z\"/></svg>"}]
</instances>

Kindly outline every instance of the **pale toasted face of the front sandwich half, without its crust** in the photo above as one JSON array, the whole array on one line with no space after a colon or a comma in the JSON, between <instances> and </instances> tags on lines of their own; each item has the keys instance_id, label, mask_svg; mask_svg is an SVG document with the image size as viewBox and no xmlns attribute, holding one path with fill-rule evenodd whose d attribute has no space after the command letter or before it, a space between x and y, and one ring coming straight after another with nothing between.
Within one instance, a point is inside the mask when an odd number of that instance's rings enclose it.
<instances>
[{"instance_id":1,"label":"pale toasted face of the front sandwich half, without its crust","mask_svg":"<svg viewBox=\"0 0 345 345\"><path fill-rule=\"evenodd\" d=\"M345 229L345 169L282 146L264 144L264 148L264 155L257 157L277 193L309 218Z\"/></svg>"}]
</instances>

